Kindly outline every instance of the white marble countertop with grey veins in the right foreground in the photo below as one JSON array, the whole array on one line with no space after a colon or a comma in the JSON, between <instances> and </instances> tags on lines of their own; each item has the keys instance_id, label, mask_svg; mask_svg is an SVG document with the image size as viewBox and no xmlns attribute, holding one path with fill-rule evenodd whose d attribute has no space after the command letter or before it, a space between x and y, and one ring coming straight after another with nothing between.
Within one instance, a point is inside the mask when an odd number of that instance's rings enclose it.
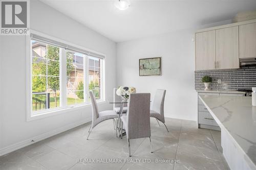
<instances>
[{"instance_id":1,"label":"white marble countertop with grey veins in the right foreground","mask_svg":"<svg viewBox=\"0 0 256 170\"><path fill-rule=\"evenodd\" d=\"M225 128L247 157L247 163L256 169L256 107L248 96L200 94L220 128Z\"/></svg>"}]
</instances>

